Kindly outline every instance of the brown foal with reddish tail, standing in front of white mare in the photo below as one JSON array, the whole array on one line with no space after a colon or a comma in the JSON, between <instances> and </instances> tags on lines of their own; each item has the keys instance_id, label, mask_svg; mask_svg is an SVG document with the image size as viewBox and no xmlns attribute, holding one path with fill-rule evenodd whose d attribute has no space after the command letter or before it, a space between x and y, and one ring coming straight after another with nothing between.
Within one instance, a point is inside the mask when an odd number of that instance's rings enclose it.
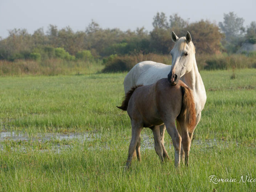
<instances>
[{"instance_id":1,"label":"brown foal with reddish tail, standing in front of white mare","mask_svg":"<svg viewBox=\"0 0 256 192\"><path fill-rule=\"evenodd\" d=\"M171 85L167 78L160 79L151 85L138 85L125 95L122 106L131 119L132 136L129 146L126 167L136 150L137 159L141 159L140 135L143 127L153 130L155 151L163 162L163 144L160 139L159 126L166 125L175 150L175 166L179 167L181 144L185 152L185 163L188 165L188 155L192 135L196 126L195 103L192 91L182 81ZM177 126L175 125L177 120Z\"/></svg>"}]
</instances>

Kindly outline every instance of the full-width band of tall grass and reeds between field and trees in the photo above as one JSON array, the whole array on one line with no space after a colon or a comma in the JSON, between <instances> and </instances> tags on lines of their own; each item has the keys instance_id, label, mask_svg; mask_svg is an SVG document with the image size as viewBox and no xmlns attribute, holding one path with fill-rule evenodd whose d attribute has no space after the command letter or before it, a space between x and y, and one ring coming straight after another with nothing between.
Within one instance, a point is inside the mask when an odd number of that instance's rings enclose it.
<instances>
[{"instance_id":1,"label":"full-width band of tall grass and reeds between field and trees","mask_svg":"<svg viewBox=\"0 0 256 192\"><path fill-rule=\"evenodd\" d=\"M135 64L141 61L155 61L171 65L170 55L159 54L135 54L125 56L110 56L103 64L101 60L67 61L62 59L36 60L0 60L0 75L59 75L59 74L92 74L97 72L125 72L129 71ZM196 54L199 70L216 69L242 69L256 68L255 54Z\"/></svg>"}]
</instances>

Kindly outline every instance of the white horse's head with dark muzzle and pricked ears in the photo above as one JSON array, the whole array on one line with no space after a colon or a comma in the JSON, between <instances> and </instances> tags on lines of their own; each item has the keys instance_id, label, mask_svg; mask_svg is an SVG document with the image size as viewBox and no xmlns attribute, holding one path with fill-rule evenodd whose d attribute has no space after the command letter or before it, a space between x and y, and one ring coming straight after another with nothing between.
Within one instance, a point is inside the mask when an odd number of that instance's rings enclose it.
<instances>
[{"instance_id":1,"label":"white horse's head with dark muzzle and pricked ears","mask_svg":"<svg viewBox=\"0 0 256 192\"><path fill-rule=\"evenodd\" d=\"M175 45L170 52L172 66L168 74L168 81L172 85L176 85L180 77L192 70L193 59L195 58L195 46L191 41L191 35L188 31L186 37L180 38L172 31L171 37Z\"/></svg>"}]
</instances>

